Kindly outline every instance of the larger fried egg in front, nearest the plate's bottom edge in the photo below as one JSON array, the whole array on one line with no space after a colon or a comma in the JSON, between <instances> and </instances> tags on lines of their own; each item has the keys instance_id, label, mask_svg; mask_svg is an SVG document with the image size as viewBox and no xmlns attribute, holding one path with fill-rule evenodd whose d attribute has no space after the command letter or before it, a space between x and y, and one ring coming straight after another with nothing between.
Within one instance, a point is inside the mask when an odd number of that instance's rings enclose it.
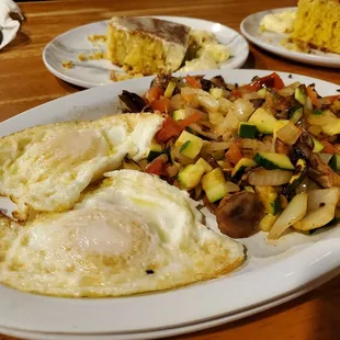
<instances>
[{"instance_id":1,"label":"larger fried egg in front, nearest the plate's bottom edge","mask_svg":"<svg viewBox=\"0 0 340 340\"><path fill-rule=\"evenodd\" d=\"M196 202L156 175L116 170L72 211L0 219L0 282L56 296L123 296L209 280L243 247L209 230Z\"/></svg>"}]
</instances>

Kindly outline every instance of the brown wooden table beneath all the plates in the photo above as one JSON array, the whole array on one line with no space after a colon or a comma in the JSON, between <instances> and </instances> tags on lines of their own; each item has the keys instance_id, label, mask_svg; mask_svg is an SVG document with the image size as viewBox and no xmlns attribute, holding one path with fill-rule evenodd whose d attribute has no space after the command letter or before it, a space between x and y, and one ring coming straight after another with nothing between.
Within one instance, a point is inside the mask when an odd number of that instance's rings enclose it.
<instances>
[{"instance_id":1,"label":"brown wooden table beneath all the plates","mask_svg":"<svg viewBox=\"0 0 340 340\"><path fill-rule=\"evenodd\" d=\"M295 5L282 0L281 7ZM239 30L241 20L271 9L272 0L55 0L22 3L26 15L16 39L0 52L0 120L81 89L50 75L42 60L44 46L72 27L115 15L185 15ZM339 70L284 60L250 46L246 68L275 69L340 84ZM1 303L1 302L0 302ZM225 326L173 339L340 339L340 277L291 303ZM13 338L0 336L0 340Z\"/></svg>"}]
</instances>

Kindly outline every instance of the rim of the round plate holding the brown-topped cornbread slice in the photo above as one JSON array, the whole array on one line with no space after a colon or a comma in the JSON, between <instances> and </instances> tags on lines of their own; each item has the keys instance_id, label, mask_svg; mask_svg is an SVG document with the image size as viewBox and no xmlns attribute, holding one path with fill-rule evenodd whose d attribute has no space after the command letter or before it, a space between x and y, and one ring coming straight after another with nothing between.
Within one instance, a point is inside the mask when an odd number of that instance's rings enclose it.
<instances>
[{"instance_id":1,"label":"rim of the round plate holding the brown-topped cornbread slice","mask_svg":"<svg viewBox=\"0 0 340 340\"><path fill-rule=\"evenodd\" d=\"M202 23L208 23L208 24L219 24L220 26L224 27L224 30L228 30L230 31L230 33L234 33L239 39L242 41L243 45L245 45L245 53L238 57L238 61L236 63L236 65L230 68L230 69L239 69L240 67L242 67L242 65L247 61L247 58L249 56L249 44L247 42L247 39L242 36L242 34L240 34L239 32L237 32L236 30L223 24L223 23L219 23L219 22L214 22L214 21L211 21L211 20L205 20L205 19L200 19L200 18L191 18L191 16L178 16L178 15L137 15L137 16L140 16L140 18L145 18L145 16L148 16L148 18L156 18L156 19L163 19L163 20L170 20L170 19L175 19L175 20L180 20L180 21L185 21L185 20L193 20L193 21L196 21L196 22L202 22ZM80 30L80 29L83 29L86 26L89 26L89 25L94 25L94 24L101 24L101 23L106 23L109 22L110 19L107 20L101 20L101 21L95 21L95 22L91 22L91 23L88 23L88 24L83 24L83 25L80 25L80 26L77 26L77 27L73 27L71 30L68 30L67 32L64 32L57 36L55 36L50 42L48 42L44 49L43 49L43 53L42 53L42 58L43 58L43 61L44 61L44 65L45 67L47 68L47 70L54 75L55 77L68 82L68 83L71 83L71 84L75 84L75 86L78 86L78 87L82 87L84 89L91 89L91 88L94 88L94 87L98 87L98 86L106 86L107 83L102 83L102 84L99 84L99 83L95 83L95 82L90 82L90 81L82 81L82 80L79 80L79 79L76 79L76 78L72 78L72 77L69 77L68 75L65 75L60 71L58 71L57 69L55 69L49 63L48 63L48 57L47 57L47 53L50 50L50 46L53 45L53 43L58 39L58 38L61 38L63 36L65 35L68 35L69 33L71 33L72 31L76 31L76 30ZM184 24L184 23L183 23ZM146 78L146 77L143 77L143 78ZM111 82L109 82L111 83Z\"/></svg>"}]
</instances>

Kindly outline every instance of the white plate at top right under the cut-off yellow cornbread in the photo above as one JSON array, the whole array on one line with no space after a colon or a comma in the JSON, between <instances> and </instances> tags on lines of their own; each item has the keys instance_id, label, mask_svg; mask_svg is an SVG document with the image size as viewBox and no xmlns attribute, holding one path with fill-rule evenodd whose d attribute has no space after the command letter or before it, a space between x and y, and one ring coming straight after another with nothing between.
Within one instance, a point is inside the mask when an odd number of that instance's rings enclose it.
<instances>
[{"instance_id":1,"label":"white plate at top right under the cut-off yellow cornbread","mask_svg":"<svg viewBox=\"0 0 340 340\"><path fill-rule=\"evenodd\" d=\"M260 22L264 15L294 9L296 10L296 8L283 8L251 14L241 22L241 32L247 37L247 39L249 39L254 45L258 45L259 47L262 47L263 49L267 49L281 57L310 65L335 68L340 67L340 55L324 53L317 49L311 49L310 54L290 50L281 45L281 41L287 38L288 34L260 32Z\"/></svg>"}]
</instances>

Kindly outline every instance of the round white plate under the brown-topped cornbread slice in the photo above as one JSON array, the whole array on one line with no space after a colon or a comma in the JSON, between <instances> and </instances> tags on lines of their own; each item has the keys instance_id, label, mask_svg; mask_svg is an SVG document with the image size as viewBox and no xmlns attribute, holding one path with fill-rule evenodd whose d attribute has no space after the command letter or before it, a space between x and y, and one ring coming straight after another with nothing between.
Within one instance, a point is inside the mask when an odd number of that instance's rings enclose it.
<instances>
[{"instance_id":1,"label":"round white plate under the brown-topped cornbread slice","mask_svg":"<svg viewBox=\"0 0 340 340\"><path fill-rule=\"evenodd\" d=\"M218 41L227 45L233 58L223 63L220 69L233 69L241 67L249 53L247 41L236 31L216 22L201 19L182 16L155 16L177 23L188 25L194 30L204 30L216 34ZM92 34L105 34L109 21L95 22L68 31L54 38L43 52L43 60L47 69L56 77L70 83L93 88L112 82L110 70L121 70L109 60L79 61L79 53L91 50L104 50L105 46L93 47L88 41ZM72 60L75 67L71 69L63 67L61 63Z\"/></svg>"}]
</instances>

